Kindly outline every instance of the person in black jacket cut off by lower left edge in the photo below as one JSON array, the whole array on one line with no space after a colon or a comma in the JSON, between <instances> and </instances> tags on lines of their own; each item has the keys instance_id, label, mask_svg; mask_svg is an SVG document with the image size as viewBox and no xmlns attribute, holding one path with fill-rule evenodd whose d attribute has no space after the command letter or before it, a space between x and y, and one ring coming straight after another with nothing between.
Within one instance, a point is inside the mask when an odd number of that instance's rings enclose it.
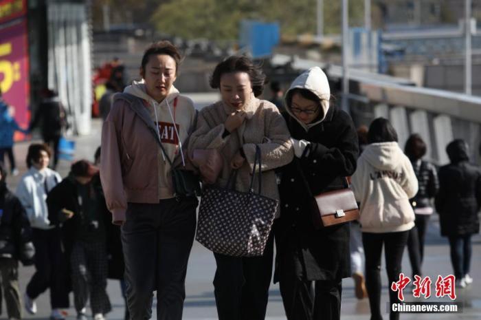
<instances>
[{"instance_id":1,"label":"person in black jacket cut off by lower left edge","mask_svg":"<svg viewBox=\"0 0 481 320\"><path fill-rule=\"evenodd\" d=\"M19 198L8 190L6 178L7 173L0 163L0 282L8 319L20 320L19 260L24 266L30 266L35 250L25 209Z\"/></svg>"}]
</instances>

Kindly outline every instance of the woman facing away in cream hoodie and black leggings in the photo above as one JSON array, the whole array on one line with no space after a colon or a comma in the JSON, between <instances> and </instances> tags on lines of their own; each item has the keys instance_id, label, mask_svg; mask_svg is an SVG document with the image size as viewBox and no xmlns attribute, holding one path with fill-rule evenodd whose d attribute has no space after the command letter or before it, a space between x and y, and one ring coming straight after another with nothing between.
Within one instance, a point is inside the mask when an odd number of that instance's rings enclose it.
<instances>
[{"instance_id":1,"label":"woman facing away in cream hoodie and black leggings","mask_svg":"<svg viewBox=\"0 0 481 320\"><path fill-rule=\"evenodd\" d=\"M418 191L412 164L397 142L396 130L385 118L372 121L369 145L357 160L351 182L356 200L361 203L361 231L366 255L366 288L371 320L381 315L381 253L385 246L385 264L389 285L399 280L407 237L414 226L410 198ZM390 290L390 303L397 303L397 292ZM390 312L390 320L399 313Z\"/></svg>"}]
</instances>

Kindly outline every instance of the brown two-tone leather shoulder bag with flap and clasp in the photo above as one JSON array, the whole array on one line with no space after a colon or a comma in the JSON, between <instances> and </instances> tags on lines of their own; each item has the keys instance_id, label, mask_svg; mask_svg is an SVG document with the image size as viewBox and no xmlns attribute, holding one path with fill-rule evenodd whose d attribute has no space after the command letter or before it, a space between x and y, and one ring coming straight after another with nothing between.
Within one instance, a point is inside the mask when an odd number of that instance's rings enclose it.
<instances>
[{"instance_id":1,"label":"brown two-tone leather shoulder bag with flap and clasp","mask_svg":"<svg viewBox=\"0 0 481 320\"><path fill-rule=\"evenodd\" d=\"M316 229L345 224L359 219L359 208L353 190L349 188L348 179L346 179L346 188L344 189L313 195L299 162L298 171L312 199L311 212L313 224Z\"/></svg>"}]
</instances>

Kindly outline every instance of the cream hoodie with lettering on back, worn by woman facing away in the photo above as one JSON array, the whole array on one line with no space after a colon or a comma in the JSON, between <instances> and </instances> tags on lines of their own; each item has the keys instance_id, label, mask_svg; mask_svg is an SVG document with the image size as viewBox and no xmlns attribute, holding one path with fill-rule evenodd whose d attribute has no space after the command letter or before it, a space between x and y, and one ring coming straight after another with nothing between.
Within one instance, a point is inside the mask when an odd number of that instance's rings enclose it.
<instances>
[{"instance_id":1,"label":"cream hoodie with lettering on back, worn by woman facing away","mask_svg":"<svg viewBox=\"0 0 481 320\"><path fill-rule=\"evenodd\" d=\"M409 199L418 192L418 180L397 142L368 145L351 181L356 200L361 202L363 232L400 232L414 226Z\"/></svg>"}]
</instances>

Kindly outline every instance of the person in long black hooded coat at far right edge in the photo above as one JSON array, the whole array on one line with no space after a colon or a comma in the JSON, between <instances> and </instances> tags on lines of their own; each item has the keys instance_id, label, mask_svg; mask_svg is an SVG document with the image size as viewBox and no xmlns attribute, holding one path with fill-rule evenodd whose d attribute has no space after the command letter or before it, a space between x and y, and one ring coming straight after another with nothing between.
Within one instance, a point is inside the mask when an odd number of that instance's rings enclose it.
<instances>
[{"instance_id":1,"label":"person in long black hooded coat at far right edge","mask_svg":"<svg viewBox=\"0 0 481 320\"><path fill-rule=\"evenodd\" d=\"M471 237L480 232L481 171L469 162L468 145L464 140L449 142L446 152L451 163L439 169L435 204L441 235L449 239L456 286L465 288L473 282L469 275Z\"/></svg>"}]
</instances>

